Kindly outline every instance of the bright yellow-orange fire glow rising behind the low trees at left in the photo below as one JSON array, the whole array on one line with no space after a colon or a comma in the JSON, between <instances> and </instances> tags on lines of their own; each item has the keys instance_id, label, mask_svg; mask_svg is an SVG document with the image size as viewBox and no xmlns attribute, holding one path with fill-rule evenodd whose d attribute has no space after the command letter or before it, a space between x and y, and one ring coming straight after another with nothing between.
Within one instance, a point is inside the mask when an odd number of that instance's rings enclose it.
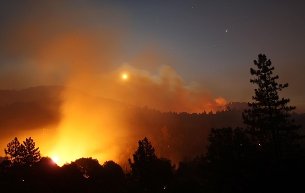
<instances>
[{"instance_id":1,"label":"bright yellow-orange fire glow rising behind the low trees at left","mask_svg":"<svg viewBox=\"0 0 305 193\"><path fill-rule=\"evenodd\" d=\"M68 89L62 93L62 99L56 139L43 154L59 166L82 157L119 163L122 147L117 138L125 137L126 130L118 115L112 109L96 106L97 99L74 95Z\"/></svg>"}]
</instances>

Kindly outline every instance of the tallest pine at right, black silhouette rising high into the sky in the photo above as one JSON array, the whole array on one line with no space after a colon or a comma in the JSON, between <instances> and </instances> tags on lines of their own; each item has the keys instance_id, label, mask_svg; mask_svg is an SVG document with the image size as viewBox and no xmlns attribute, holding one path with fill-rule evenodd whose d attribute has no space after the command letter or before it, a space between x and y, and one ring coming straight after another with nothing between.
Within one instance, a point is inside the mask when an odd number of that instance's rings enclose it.
<instances>
[{"instance_id":1,"label":"tallest pine at right, black silhouette rising high into the sky","mask_svg":"<svg viewBox=\"0 0 305 193\"><path fill-rule=\"evenodd\" d=\"M296 173L304 172L304 150L300 148L298 133L300 125L295 125L288 106L289 99L279 98L278 92L288 83L277 84L278 76L273 76L274 67L265 55L259 54L254 60L257 69L250 69L256 76L250 82L256 84L254 102L248 103L250 109L244 110L242 118L247 125L252 144L256 145L249 177L257 190L291 191L302 188L301 178ZM245 181L249 183L249 181Z\"/></svg>"}]
</instances>

